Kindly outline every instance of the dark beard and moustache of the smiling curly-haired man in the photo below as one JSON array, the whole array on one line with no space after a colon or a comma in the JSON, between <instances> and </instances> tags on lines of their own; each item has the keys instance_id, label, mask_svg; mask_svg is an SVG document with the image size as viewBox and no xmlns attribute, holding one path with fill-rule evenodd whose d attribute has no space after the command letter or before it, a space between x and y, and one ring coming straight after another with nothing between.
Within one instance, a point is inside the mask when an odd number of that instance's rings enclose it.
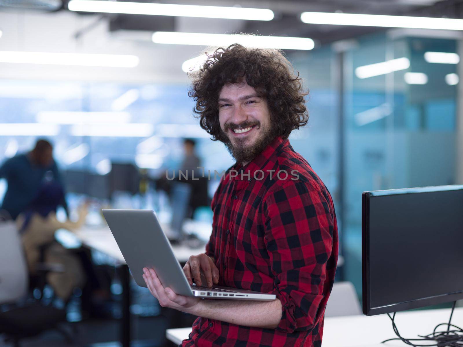
<instances>
[{"instance_id":1,"label":"dark beard and moustache of the smiling curly-haired man","mask_svg":"<svg viewBox=\"0 0 463 347\"><path fill-rule=\"evenodd\" d=\"M256 139L255 143L250 143L250 140L246 137L244 138L235 138L233 143L230 140L230 137L226 135L228 129L236 128L247 128L249 126L255 125L260 134ZM275 134L272 131L272 126L262 127L260 122L243 122L241 124L225 124L225 132L222 130L222 136L224 138L224 143L228 152L232 157L240 164L250 162L257 155L259 155L275 138Z\"/></svg>"}]
</instances>

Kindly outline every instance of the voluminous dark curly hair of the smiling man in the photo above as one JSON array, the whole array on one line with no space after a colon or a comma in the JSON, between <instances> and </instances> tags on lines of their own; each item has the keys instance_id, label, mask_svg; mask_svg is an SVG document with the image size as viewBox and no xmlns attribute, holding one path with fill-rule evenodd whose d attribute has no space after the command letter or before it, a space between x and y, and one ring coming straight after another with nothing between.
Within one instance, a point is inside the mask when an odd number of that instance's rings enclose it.
<instances>
[{"instance_id":1,"label":"voluminous dark curly hair of the smiling man","mask_svg":"<svg viewBox=\"0 0 463 347\"><path fill-rule=\"evenodd\" d=\"M247 48L235 43L207 54L198 72L190 72L188 95L194 113L212 140L226 142L219 124L219 93L225 84L244 79L269 105L273 136L288 138L291 131L307 124L308 112L299 73L279 50Z\"/></svg>"}]
</instances>

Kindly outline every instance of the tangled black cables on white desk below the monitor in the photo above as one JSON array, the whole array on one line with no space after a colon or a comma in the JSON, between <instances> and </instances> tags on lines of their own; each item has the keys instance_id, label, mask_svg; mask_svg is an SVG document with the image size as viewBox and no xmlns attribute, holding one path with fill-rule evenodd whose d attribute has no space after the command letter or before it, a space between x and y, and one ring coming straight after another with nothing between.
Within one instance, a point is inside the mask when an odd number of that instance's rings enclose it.
<instances>
[{"instance_id":1,"label":"tangled black cables on white desk below the monitor","mask_svg":"<svg viewBox=\"0 0 463 347\"><path fill-rule=\"evenodd\" d=\"M387 341L393 341L393 340L401 340L405 344L413 347L430 347L430 346L435 346L435 347L463 347L463 329L460 327L457 327L454 324L451 324L452 321L452 316L453 316L453 311L455 310L455 304L457 304L456 301L453 302L452 305L452 310L450 312L450 319L448 323L440 323L436 325L434 328L433 332L429 335L418 335L420 338L419 339L406 339L400 336L399 330L397 329L397 326L395 325L395 313L391 317L391 315L388 313L388 317L392 321L392 328L394 330L395 335L397 335L396 338L393 339L388 339L384 340L381 343L387 342ZM447 325L447 330L446 331L437 331L438 327L441 325ZM450 327L455 328L454 330L450 330ZM413 344L412 341L418 341L419 342L435 342L434 344L425 344L425 345L418 345L418 344Z\"/></svg>"}]
</instances>

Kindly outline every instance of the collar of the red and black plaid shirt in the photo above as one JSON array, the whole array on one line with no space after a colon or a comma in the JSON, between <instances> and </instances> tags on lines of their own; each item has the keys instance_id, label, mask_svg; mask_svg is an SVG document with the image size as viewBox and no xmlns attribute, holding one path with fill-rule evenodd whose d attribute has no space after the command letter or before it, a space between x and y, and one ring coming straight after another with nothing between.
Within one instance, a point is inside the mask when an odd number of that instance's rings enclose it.
<instances>
[{"instance_id":1,"label":"collar of the red and black plaid shirt","mask_svg":"<svg viewBox=\"0 0 463 347\"><path fill-rule=\"evenodd\" d=\"M257 170L263 170L264 174L267 175L268 173L265 172L264 168L267 166L269 161L276 157L277 153L279 153L283 148L288 146L288 139L276 136L269 145L249 163L244 166L239 163L233 165L232 170L237 171L238 174L236 177L232 177L233 175L230 175L230 180L248 181L249 178L251 180L254 179L255 174L260 178L262 173L256 173Z\"/></svg>"}]
</instances>

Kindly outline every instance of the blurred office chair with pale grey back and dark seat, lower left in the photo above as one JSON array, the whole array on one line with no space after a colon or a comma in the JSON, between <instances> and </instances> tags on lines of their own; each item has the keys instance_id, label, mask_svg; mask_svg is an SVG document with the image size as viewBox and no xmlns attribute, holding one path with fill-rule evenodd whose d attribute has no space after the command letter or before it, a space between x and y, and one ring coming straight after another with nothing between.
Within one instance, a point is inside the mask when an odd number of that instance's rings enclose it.
<instances>
[{"instance_id":1,"label":"blurred office chair with pale grey back and dark seat, lower left","mask_svg":"<svg viewBox=\"0 0 463 347\"><path fill-rule=\"evenodd\" d=\"M49 271L47 269L46 271ZM68 342L69 334L58 326L66 321L65 310L45 306L40 302L18 304L28 291L29 272L22 242L13 221L0 221L0 334L5 341L19 347L19 340L57 329ZM6 308L5 306L13 306Z\"/></svg>"}]
</instances>

